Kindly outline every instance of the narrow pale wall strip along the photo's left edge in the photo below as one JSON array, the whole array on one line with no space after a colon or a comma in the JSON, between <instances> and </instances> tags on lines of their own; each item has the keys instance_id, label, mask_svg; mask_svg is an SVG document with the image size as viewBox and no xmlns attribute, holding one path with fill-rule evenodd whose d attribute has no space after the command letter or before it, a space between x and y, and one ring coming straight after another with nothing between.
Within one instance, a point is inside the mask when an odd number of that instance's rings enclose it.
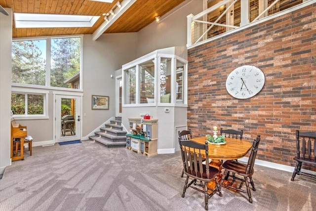
<instances>
[{"instance_id":1,"label":"narrow pale wall strip along the photo's left edge","mask_svg":"<svg viewBox=\"0 0 316 211\"><path fill-rule=\"evenodd\" d=\"M12 9L0 13L0 174L10 165Z\"/></svg>"}]
</instances>

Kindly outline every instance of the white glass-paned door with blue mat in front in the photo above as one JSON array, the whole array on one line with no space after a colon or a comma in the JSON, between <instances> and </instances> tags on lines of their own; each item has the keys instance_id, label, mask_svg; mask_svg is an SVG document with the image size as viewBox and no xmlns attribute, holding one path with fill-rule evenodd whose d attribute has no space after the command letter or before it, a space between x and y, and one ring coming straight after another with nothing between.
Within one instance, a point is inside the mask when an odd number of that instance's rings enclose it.
<instances>
[{"instance_id":1,"label":"white glass-paned door with blue mat in front","mask_svg":"<svg viewBox=\"0 0 316 211\"><path fill-rule=\"evenodd\" d=\"M55 142L80 140L81 96L56 95Z\"/></svg>"}]
</instances>

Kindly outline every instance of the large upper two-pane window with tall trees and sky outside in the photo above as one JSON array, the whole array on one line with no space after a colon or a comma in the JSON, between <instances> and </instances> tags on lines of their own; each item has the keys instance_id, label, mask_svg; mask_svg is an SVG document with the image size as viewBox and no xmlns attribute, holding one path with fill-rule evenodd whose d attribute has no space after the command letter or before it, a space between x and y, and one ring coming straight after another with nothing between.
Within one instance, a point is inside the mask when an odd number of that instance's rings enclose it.
<instances>
[{"instance_id":1,"label":"large upper two-pane window with tall trees and sky outside","mask_svg":"<svg viewBox=\"0 0 316 211\"><path fill-rule=\"evenodd\" d=\"M79 89L80 49L81 37L13 41L12 82Z\"/></svg>"}]
</instances>

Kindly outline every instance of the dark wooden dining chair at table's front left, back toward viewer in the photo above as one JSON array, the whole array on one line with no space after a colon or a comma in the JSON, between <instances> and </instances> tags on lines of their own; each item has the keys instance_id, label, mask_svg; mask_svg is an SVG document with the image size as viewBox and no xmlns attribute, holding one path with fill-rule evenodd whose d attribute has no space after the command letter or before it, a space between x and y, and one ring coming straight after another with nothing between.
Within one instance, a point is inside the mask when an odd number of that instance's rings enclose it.
<instances>
[{"instance_id":1,"label":"dark wooden dining chair at table's front left, back toward viewer","mask_svg":"<svg viewBox=\"0 0 316 211\"><path fill-rule=\"evenodd\" d=\"M182 198L184 198L187 188L191 187L204 194L205 210L208 210L208 199L217 191L219 195L222 196L221 187L217 180L219 169L208 165L208 142L206 141L205 144L199 144L194 141L179 139L179 144L184 173L187 175ZM203 158L202 155L205 155L205 158ZM203 159L205 159L206 165L203 164ZM192 180L189 183L190 177ZM197 182L197 180L199 182ZM216 188L214 190L207 188L207 183L212 180L216 182Z\"/></svg>"}]
</instances>

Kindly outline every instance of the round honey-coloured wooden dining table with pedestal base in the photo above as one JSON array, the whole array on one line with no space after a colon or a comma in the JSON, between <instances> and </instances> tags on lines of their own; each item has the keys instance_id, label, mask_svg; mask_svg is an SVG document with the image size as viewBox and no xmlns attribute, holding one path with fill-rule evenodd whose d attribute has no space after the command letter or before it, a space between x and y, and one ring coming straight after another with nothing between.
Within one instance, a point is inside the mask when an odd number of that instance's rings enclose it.
<instances>
[{"instance_id":1,"label":"round honey-coloured wooden dining table with pedestal base","mask_svg":"<svg viewBox=\"0 0 316 211\"><path fill-rule=\"evenodd\" d=\"M200 136L190 139L200 144L205 144L206 137ZM225 137L226 144L208 144L208 158L212 159L209 164L212 167L222 170L222 160L235 160L244 157L252 147L252 144L247 140ZM201 151L201 153L203 153ZM205 152L204 152L205 153ZM218 181L222 179L222 173L218 175ZM225 181L224 181L225 182ZM214 189L215 182L209 182L208 188Z\"/></svg>"}]
</instances>

